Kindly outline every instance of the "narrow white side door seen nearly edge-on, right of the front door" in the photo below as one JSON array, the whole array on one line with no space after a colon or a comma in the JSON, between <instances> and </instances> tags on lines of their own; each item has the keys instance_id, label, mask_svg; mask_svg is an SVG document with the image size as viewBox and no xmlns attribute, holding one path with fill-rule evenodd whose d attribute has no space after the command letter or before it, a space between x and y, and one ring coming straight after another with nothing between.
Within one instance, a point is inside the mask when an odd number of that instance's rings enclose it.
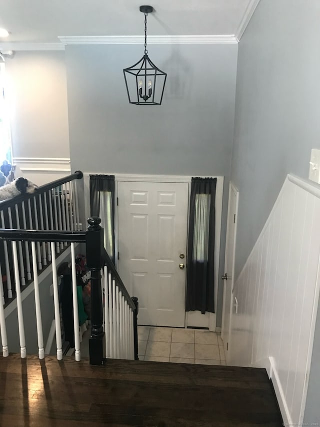
<instances>
[{"instance_id":1,"label":"narrow white side door seen nearly edge-on, right of the front door","mask_svg":"<svg viewBox=\"0 0 320 427\"><path fill-rule=\"evenodd\" d=\"M236 234L236 215L237 215L238 191L230 183L229 185L229 201L228 201L228 216L226 223L226 239L225 239L225 258L224 272L226 278L223 280L223 308L222 308L222 328L221 337L223 340L226 360L228 360L228 348L230 337L230 317L232 313L232 288L233 288L233 270L234 270L234 249L235 249L235 234Z\"/></svg>"}]
</instances>

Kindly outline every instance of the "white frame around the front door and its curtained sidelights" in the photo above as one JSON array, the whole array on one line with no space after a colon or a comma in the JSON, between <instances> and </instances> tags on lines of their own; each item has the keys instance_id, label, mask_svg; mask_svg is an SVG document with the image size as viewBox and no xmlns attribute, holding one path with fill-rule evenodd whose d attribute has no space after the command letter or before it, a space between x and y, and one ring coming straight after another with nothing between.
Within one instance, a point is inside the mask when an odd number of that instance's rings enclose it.
<instances>
[{"instance_id":1,"label":"white frame around the front door and its curtained sidelights","mask_svg":"<svg viewBox=\"0 0 320 427\"><path fill-rule=\"evenodd\" d=\"M85 214L86 218L90 216L90 189L89 189L89 181L91 174L111 174L111 172L86 172L83 174L83 183L84 183L84 200L85 200ZM114 175L115 183L118 181L135 181L135 182L183 182L190 184L192 176L190 175L140 175L140 174L120 174L120 173L112 173ZM208 178L208 176L199 176L199 178ZM210 330L215 331L215 322L216 322L216 304L217 304L217 293L218 293L218 283L219 283L219 251L220 251L220 237L221 237L221 218L222 218L222 197L223 197L223 176L212 176L210 178L217 178L216 180L216 199L215 199L215 241L214 241L214 253L218 254L214 258L214 311L215 313L208 313L208 320L201 324L201 327L208 327ZM189 202L190 202L190 192L191 185L189 185L189 197L188 197L188 222L189 222ZM117 194L117 185L115 185L115 197L118 197ZM116 202L116 200L115 200ZM118 228L117 228L117 207L115 203L115 212L114 212L114 254L115 254L115 266L117 267L117 252L118 252ZM85 225L86 228L86 225ZM188 229L188 226L187 226ZM186 230L187 232L187 230ZM186 254L187 259L187 254ZM195 326L194 324L190 324L190 318L192 318L192 314L195 314L194 317L199 317L197 312L185 312L185 327L187 326ZM200 314L200 316L202 316ZM192 320L191 320L192 321ZM201 320L203 321L203 320Z\"/></svg>"}]
</instances>

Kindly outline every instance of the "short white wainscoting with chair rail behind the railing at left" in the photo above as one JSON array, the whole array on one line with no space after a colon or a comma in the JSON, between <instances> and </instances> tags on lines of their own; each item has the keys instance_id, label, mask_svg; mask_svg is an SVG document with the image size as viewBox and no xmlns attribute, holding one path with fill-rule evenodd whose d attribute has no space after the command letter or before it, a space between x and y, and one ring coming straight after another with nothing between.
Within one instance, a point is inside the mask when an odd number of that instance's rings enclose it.
<instances>
[{"instance_id":1,"label":"short white wainscoting with chair rail behind the railing at left","mask_svg":"<svg viewBox=\"0 0 320 427\"><path fill-rule=\"evenodd\" d=\"M23 176L36 185L47 184L70 175L69 158L13 157L15 177Z\"/></svg>"}]
</instances>

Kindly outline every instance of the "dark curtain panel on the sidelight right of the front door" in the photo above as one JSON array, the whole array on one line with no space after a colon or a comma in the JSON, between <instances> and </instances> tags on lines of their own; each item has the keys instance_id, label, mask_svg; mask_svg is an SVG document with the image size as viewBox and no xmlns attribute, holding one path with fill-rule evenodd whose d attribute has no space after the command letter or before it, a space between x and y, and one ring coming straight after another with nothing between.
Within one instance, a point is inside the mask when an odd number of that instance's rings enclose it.
<instances>
[{"instance_id":1,"label":"dark curtain panel on the sidelight right of the front door","mask_svg":"<svg viewBox=\"0 0 320 427\"><path fill-rule=\"evenodd\" d=\"M214 313L216 178L192 178L186 272L186 311Z\"/></svg>"}]
</instances>

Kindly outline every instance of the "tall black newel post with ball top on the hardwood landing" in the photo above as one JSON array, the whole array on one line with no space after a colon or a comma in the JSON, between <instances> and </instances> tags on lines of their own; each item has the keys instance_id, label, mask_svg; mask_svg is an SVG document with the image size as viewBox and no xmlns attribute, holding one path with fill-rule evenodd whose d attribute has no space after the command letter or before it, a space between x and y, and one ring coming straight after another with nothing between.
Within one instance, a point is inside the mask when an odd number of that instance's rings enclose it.
<instances>
[{"instance_id":1,"label":"tall black newel post with ball top on the hardwood landing","mask_svg":"<svg viewBox=\"0 0 320 427\"><path fill-rule=\"evenodd\" d=\"M105 359L105 336L102 322L101 297L101 254L103 247L103 229L100 218L88 219L89 227L85 232L86 265L91 271L91 336L89 338L90 365L102 365Z\"/></svg>"}]
</instances>

